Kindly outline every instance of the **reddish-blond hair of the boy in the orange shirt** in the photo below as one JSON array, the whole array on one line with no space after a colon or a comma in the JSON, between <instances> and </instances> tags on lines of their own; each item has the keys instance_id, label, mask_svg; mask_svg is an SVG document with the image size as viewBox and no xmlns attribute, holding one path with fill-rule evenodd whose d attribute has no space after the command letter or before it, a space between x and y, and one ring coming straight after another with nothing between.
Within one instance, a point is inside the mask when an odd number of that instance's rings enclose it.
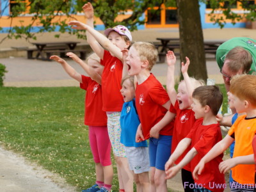
<instances>
[{"instance_id":1,"label":"reddish-blond hair of the boy in the orange shirt","mask_svg":"<svg viewBox=\"0 0 256 192\"><path fill-rule=\"evenodd\" d=\"M230 92L239 99L248 100L256 107L256 76L234 76L230 84Z\"/></svg>"}]
</instances>

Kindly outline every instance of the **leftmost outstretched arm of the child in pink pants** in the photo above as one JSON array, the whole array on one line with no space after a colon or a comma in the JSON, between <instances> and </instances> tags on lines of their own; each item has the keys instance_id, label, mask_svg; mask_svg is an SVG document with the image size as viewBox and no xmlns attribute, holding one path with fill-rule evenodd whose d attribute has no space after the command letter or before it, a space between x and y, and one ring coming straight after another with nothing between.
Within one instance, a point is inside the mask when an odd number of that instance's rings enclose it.
<instances>
[{"instance_id":1,"label":"leftmost outstretched arm of the child in pink pants","mask_svg":"<svg viewBox=\"0 0 256 192\"><path fill-rule=\"evenodd\" d=\"M76 81L78 81L79 83L83 83L81 74L79 74L73 67L68 65L67 61L61 59L59 56L56 55L52 55L50 59L60 63L64 70L67 72L68 76L76 79Z\"/></svg>"}]
</instances>

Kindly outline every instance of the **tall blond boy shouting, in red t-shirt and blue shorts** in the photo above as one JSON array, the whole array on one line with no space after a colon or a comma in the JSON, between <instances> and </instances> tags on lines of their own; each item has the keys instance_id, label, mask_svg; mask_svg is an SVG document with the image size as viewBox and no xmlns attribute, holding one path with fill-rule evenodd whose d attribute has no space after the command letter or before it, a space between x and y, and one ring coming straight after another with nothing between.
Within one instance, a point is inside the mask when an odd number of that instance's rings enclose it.
<instances>
[{"instance_id":1,"label":"tall blond boy shouting, in red t-shirt and blue shorts","mask_svg":"<svg viewBox=\"0 0 256 192\"><path fill-rule=\"evenodd\" d=\"M170 156L175 114L170 113L170 99L163 85L150 73L156 63L156 47L147 42L136 42L129 49L125 63L128 75L136 76L135 103L141 124L136 142L149 138L150 191L167 191L164 164Z\"/></svg>"}]
</instances>

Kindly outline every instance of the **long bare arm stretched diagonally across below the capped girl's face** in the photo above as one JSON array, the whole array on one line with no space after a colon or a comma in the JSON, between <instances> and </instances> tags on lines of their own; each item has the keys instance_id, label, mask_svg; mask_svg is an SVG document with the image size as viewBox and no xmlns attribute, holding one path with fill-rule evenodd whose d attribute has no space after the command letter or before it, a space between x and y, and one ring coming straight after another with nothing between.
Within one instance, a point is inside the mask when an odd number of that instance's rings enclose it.
<instances>
[{"instance_id":1,"label":"long bare arm stretched diagonally across below the capped girl's face","mask_svg":"<svg viewBox=\"0 0 256 192\"><path fill-rule=\"evenodd\" d=\"M92 27L88 26L87 24L83 24L82 22L79 22L77 20L72 20L68 22L68 25L72 26L72 29L84 29L87 30L91 35L99 42L102 47L107 49L111 54L116 56L119 60L123 61L123 54L122 51L114 44L111 43L111 41L104 36L102 33L99 31L96 31ZM92 47L93 49L93 47ZM94 50L93 50L94 51ZM98 55L101 59L103 59L103 54Z\"/></svg>"}]
</instances>

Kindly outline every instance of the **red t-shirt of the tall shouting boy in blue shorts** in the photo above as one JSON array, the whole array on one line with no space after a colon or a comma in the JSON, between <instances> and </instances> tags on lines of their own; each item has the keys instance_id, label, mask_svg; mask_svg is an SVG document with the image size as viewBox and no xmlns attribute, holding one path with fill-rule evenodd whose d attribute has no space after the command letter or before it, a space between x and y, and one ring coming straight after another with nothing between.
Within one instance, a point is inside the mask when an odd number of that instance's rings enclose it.
<instances>
[{"instance_id":1,"label":"red t-shirt of the tall shouting boy in blue shorts","mask_svg":"<svg viewBox=\"0 0 256 192\"><path fill-rule=\"evenodd\" d=\"M163 104L170 99L163 85L157 81L153 74L150 74L143 83L137 84L135 99L143 136L147 140L150 129L166 114L167 109L163 107ZM159 134L171 136L173 124L174 121L163 127Z\"/></svg>"}]
</instances>

